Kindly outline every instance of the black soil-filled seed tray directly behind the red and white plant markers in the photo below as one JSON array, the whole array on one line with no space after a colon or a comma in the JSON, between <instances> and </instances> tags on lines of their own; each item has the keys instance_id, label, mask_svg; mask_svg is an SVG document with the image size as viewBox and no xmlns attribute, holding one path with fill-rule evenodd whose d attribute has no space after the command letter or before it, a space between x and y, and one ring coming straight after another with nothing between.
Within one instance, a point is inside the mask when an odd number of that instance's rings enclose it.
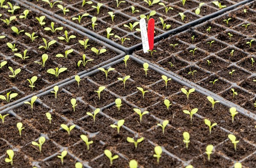
<instances>
[{"instance_id":1,"label":"black soil-filled seed tray directly behind the red and white plant markers","mask_svg":"<svg viewBox=\"0 0 256 168\"><path fill-rule=\"evenodd\" d=\"M125 28L124 24L134 23L136 21L140 20L140 14L148 15L150 11L155 10L157 13L153 16L155 19L155 40L161 40L163 38L169 37L171 34L175 34L177 32L183 31L191 26L195 26L198 23L201 23L205 20L209 20L209 18L216 17L219 14L223 14L225 11L228 11L230 9L235 8L236 6L239 6L241 4L250 2L252 0L244 0L244 1L231 1L231 0L222 0L220 1L221 4L227 5L227 8L218 10L213 4L212 1L205 2L204 6L201 9L201 15L195 14L195 9L199 6L199 1L196 0L187 0L185 3L185 6L182 5L180 1L176 1L174 3L169 3L164 0L161 0L162 3L165 3L166 5L169 4L169 6L174 8L174 11L170 10L169 15L165 14L164 7L160 6L158 4L155 4L153 7L148 7L146 3L141 0L127 0L127 3L121 3L119 8L115 7L115 1L95 1L93 0L93 4L96 5L97 3L103 3L103 6L100 9L100 13L97 14L96 9L91 9L91 5L85 5L83 8L81 7L81 1L80 0L64 0L61 2L61 4L66 7L67 9L70 9L70 12L67 12L66 16L61 14L61 10L58 9L58 7L55 5L53 8L49 8L47 4L37 1L26 1L26 0L20 0L23 3L26 3L29 7L35 7L40 9L41 11L44 11L44 13L47 13L51 16L54 16L58 18L59 20L63 20L64 22L70 24L73 27L76 27L80 29L81 31L86 32L87 34L90 34L97 39L100 39L102 41L105 41L106 43L111 44L112 46L115 46L116 48L119 48L122 51L125 51L126 54L131 54L135 49L141 48L141 35L140 32L135 31L129 31L127 28ZM239 2L239 3L237 3ZM197 5L194 5L197 4ZM136 14L131 14L131 6L135 6L135 8L140 9L140 12ZM113 11L114 14L116 14L117 22L112 23L111 17L108 15L108 11ZM130 12L129 12L130 11ZM178 12L183 12L186 17L185 20L182 21L180 19L180 15ZM76 14L79 13L79 14ZM81 25L77 24L77 22L72 21L72 17L78 17L81 14L89 13L89 18L96 16L98 28L96 26L96 30L93 31L91 27L91 20L88 18L84 18ZM159 20L159 17L162 17L166 24L171 24L172 30L165 31L161 27L161 23ZM111 37L111 39L106 38L106 28L112 28L113 33L115 35L118 35L119 37L127 37L131 40L126 40L124 43L124 46L121 45L119 40L116 40ZM139 26L137 26L139 28Z\"/></svg>"}]
</instances>

